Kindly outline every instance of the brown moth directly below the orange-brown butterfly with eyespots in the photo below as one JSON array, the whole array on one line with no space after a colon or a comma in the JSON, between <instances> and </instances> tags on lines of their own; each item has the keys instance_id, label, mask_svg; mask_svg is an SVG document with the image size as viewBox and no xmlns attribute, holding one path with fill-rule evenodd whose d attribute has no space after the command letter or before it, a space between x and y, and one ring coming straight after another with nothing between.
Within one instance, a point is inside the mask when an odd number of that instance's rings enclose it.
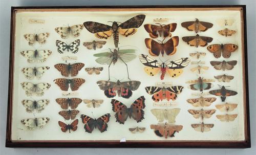
<instances>
[{"instance_id":1,"label":"brown moth directly below the orange-brown butterfly with eyespots","mask_svg":"<svg viewBox=\"0 0 256 155\"><path fill-rule=\"evenodd\" d=\"M232 61L210 61L210 64L216 69L216 70L232 70L234 68L234 65L237 64L237 60Z\"/></svg>"}]
</instances>

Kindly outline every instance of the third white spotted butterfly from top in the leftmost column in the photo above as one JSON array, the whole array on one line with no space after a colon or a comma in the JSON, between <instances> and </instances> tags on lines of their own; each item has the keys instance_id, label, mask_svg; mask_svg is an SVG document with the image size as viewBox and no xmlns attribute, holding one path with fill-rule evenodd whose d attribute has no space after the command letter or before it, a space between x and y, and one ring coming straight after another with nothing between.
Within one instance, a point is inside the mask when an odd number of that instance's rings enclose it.
<instances>
[{"instance_id":1,"label":"third white spotted butterfly from top in the leftmost column","mask_svg":"<svg viewBox=\"0 0 256 155\"><path fill-rule=\"evenodd\" d=\"M37 79L41 79L42 75L49 70L50 67L34 67L34 68L23 68L22 73L25 75L26 78L32 80L34 77Z\"/></svg>"}]
</instances>

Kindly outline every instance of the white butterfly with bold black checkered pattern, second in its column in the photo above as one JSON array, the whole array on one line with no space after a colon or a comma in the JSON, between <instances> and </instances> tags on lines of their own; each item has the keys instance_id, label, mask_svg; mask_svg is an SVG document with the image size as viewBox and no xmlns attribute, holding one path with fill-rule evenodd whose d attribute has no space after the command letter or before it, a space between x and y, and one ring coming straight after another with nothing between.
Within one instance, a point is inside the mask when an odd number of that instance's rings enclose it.
<instances>
[{"instance_id":1,"label":"white butterfly with bold black checkered pattern, second in its column","mask_svg":"<svg viewBox=\"0 0 256 155\"><path fill-rule=\"evenodd\" d=\"M73 42L71 42L69 45L63 41L60 40L56 40L56 47L57 47L57 51L62 54L63 52L65 52L66 50L72 53L76 53L78 52L78 47L80 45L80 39L77 39Z\"/></svg>"}]
</instances>

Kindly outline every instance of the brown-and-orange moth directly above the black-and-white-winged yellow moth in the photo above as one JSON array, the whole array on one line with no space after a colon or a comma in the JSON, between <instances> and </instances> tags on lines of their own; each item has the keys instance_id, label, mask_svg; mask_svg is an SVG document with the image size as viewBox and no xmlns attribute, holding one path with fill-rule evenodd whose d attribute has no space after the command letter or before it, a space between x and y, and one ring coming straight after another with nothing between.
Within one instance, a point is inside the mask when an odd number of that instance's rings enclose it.
<instances>
[{"instance_id":1,"label":"brown-and-orange moth directly above the black-and-white-winged yellow moth","mask_svg":"<svg viewBox=\"0 0 256 155\"><path fill-rule=\"evenodd\" d=\"M164 38L165 39L165 38ZM148 52L152 56L159 56L160 53L163 54L165 53L166 55L174 55L176 53L176 47L179 45L179 37L174 36L170 38L169 40L164 41L158 40L159 42L150 39L150 38L145 38L145 44L146 47L149 49Z\"/></svg>"}]
</instances>

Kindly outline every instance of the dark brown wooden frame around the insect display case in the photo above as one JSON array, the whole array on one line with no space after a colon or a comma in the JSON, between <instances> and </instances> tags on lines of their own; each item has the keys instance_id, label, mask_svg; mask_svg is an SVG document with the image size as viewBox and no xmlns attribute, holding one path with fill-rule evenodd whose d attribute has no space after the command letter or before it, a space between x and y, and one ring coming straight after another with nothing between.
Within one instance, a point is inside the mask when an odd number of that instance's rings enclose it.
<instances>
[{"instance_id":1,"label":"dark brown wooden frame around the insect display case","mask_svg":"<svg viewBox=\"0 0 256 155\"><path fill-rule=\"evenodd\" d=\"M15 12L23 9L146 9L146 8L241 8L243 13L244 34L244 77L245 77L245 140L244 141L23 141L11 140L12 123L12 93L13 93L13 69L14 69L14 34L15 34ZM6 129L6 147L133 147L133 148L249 148L250 142L250 118L249 118L249 88L248 88L248 62L247 62L247 34L246 34L246 6L245 5L188 5L188 6L47 6L47 7L12 7L11 8L11 32L10 32L10 60L9 60L9 91L8 91L8 113Z\"/></svg>"}]
</instances>

